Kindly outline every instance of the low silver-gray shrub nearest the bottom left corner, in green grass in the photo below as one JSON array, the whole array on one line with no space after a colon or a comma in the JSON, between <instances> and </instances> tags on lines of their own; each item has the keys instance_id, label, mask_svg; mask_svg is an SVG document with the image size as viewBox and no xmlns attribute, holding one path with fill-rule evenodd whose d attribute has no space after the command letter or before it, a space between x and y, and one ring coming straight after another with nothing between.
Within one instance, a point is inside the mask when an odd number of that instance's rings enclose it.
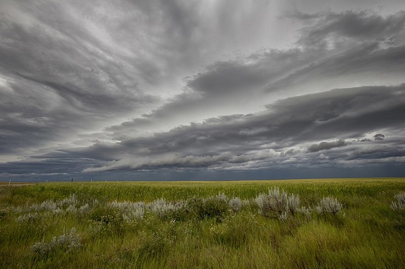
<instances>
[{"instance_id":1,"label":"low silver-gray shrub nearest the bottom left corner, in green grass","mask_svg":"<svg viewBox=\"0 0 405 269\"><path fill-rule=\"evenodd\" d=\"M82 247L80 240L80 235L72 228L69 234L65 234L64 232L63 235L59 237L55 236L49 243L36 242L31 246L31 250L41 255L48 255L57 250L68 252Z\"/></svg>"}]
</instances>

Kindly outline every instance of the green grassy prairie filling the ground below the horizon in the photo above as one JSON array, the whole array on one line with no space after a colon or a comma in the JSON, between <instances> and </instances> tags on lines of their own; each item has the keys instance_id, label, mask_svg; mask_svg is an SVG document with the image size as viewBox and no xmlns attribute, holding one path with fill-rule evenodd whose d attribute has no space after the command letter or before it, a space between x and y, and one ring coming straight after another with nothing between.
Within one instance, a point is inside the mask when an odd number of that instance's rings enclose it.
<instances>
[{"instance_id":1,"label":"green grassy prairie filling the ground below the horizon","mask_svg":"<svg viewBox=\"0 0 405 269\"><path fill-rule=\"evenodd\" d=\"M255 198L274 187L299 195L300 207L314 209L334 196L343 209L265 217ZM405 210L390 205L404 191L405 179L0 186L0 264L399 268L405 266ZM235 197L240 210L228 205Z\"/></svg>"}]
</instances>

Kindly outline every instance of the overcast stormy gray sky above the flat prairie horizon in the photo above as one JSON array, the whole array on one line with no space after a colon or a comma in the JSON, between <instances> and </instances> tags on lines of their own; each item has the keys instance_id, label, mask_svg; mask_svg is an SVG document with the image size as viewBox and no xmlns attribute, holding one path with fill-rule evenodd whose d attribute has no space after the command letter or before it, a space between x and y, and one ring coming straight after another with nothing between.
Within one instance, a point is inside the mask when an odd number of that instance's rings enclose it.
<instances>
[{"instance_id":1,"label":"overcast stormy gray sky above the flat prairie horizon","mask_svg":"<svg viewBox=\"0 0 405 269\"><path fill-rule=\"evenodd\" d=\"M405 177L403 0L2 0L0 181Z\"/></svg>"}]
</instances>

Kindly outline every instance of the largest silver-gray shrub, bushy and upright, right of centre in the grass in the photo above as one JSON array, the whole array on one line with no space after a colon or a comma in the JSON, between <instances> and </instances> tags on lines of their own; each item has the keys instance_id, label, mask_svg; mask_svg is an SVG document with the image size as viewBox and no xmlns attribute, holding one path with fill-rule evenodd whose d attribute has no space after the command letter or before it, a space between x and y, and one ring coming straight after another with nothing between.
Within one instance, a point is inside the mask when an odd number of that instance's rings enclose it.
<instances>
[{"instance_id":1,"label":"largest silver-gray shrub, bushy and upright, right of centre in the grass","mask_svg":"<svg viewBox=\"0 0 405 269\"><path fill-rule=\"evenodd\" d=\"M287 218L288 212L296 212L300 205L299 195L290 194L278 187L269 189L268 194L261 193L255 198L255 203L259 207L259 213L266 217L272 214L281 219Z\"/></svg>"}]
</instances>

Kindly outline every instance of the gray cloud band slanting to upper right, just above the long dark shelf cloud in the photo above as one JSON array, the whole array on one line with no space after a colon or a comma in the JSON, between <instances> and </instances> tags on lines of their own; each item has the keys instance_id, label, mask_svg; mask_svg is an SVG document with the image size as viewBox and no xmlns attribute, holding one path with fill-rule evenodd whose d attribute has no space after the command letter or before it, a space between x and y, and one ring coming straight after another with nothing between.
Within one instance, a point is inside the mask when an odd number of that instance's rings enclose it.
<instances>
[{"instance_id":1,"label":"gray cloud band slanting to upper right, just above the long dark shelf cloud","mask_svg":"<svg viewBox=\"0 0 405 269\"><path fill-rule=\"evenodd\" d=\"M107 130L117 130L115 137L121 138L127 130L136 126L151 126L171 118L186 119L185 115L209 115L207 103L212 111L210 116L216 116L224 107L228 110L236 106L253 109L265 104L264 99L259 97L263 89L268 93L282 92L281 96L289 97L299 94L303 87L306 92L324 91L331 82L335 87L353 87L359 83L402 83L400 71L405 68L405 61L401 61L404 56L401 44L405 40L398 40L404 30L403 14L398 12L385 18L374 13L353 11L311 15L317 20L301 31L299 43L303 47L264 49L215 62L203 72L186 77L187 90L165 105ZM359 37L350 32L349 19L361 21L361 27L367 29L373 28L373 25L378 29L390 29L389 35L385 30L375 29L373 34ZM334 26L326 27L329 24ZM358 31L361 32L361 29ZM305 40L313 40L315 32L318 38L332 42L333 48L307 44ZM331 34L334 34L332 39L329 37ZM345 36L344 43L338 44L342 36ZM197 121L202 120L196 117ZM188 119L193 121L192 116Z\"/></svg>"}]
</instances>

